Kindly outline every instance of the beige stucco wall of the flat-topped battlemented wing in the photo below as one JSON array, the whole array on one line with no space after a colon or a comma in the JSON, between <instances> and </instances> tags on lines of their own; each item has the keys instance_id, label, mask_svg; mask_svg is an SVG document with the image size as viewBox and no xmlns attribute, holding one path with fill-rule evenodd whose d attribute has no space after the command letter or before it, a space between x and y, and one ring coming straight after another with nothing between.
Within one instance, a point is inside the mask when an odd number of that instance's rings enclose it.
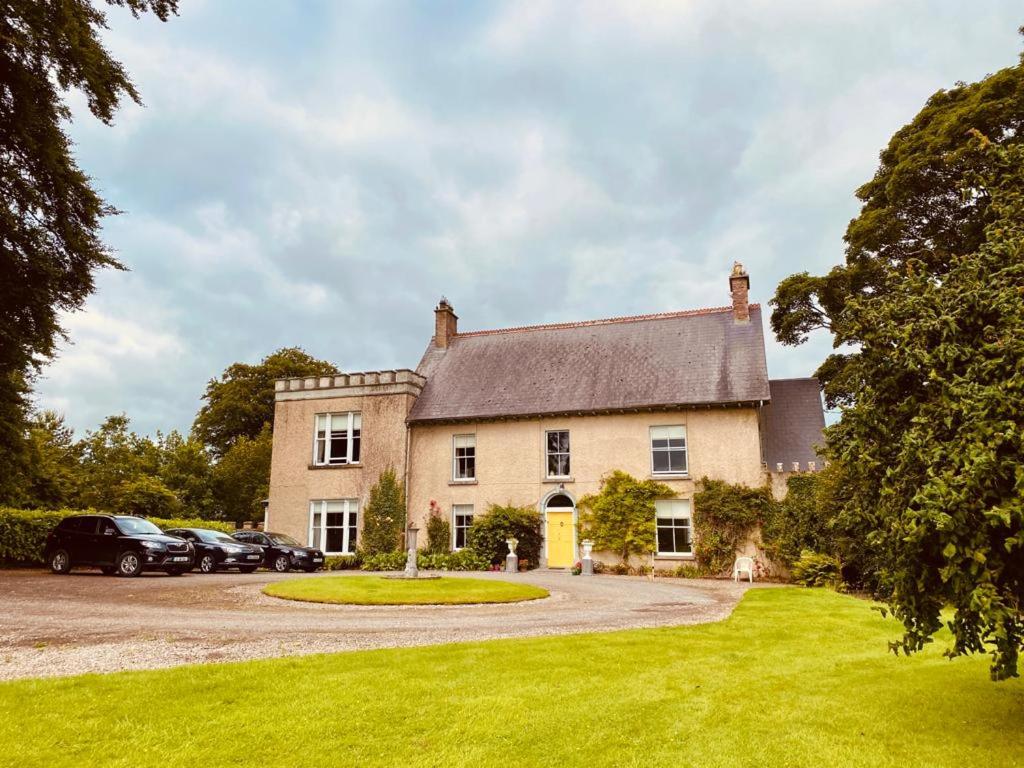
<instances>
[{"instance_id":1,"label":"beige stucco wall of the flat-topped battlemented wing","mask_svg":"<svg viewBox=\"0 0 1024 768\"><path fill-rule=\"evenodd\" d=\"M406 416L412 403L409 394L279 400L274 407L267 528L305 543L310 501L358 499L361 531L361 511L380 473L392 467L402 479ZM311 468L316 414L348 411L362 414L360 463Z\"/></svg>"}]
</instances>

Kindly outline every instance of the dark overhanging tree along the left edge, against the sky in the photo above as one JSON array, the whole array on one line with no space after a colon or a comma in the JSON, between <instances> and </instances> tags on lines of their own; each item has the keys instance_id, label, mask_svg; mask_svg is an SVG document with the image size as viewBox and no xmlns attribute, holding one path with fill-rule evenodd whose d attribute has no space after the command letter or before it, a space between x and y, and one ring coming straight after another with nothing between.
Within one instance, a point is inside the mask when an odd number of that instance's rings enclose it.
<instances>
[{"instance_id":1,"label":"dark overhanging tree along the left edge, against the sky","mask_svg":"<svg viewBox=\"0 0 1024 768\"><path fill-rule=\"evenodd\" d=\"M108 0L166 20L176 0ZM32 377L62 337L58 313L81 308L93 275L121 264L99 238L116 213L71 154L67 94L110 124L139 95L99 41L105 15L87 0L8 0L0 14L0 465L26 461ZM0 493L10 488L0 488Z\"/></svg>"}]
</instances>

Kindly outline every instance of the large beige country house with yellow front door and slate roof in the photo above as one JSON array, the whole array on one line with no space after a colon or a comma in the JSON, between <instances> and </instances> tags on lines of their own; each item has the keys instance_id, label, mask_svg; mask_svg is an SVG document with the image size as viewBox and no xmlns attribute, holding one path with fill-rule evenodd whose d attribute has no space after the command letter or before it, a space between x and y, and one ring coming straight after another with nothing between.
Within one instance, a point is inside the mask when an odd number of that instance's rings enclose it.
<instances>
[{"instance_id":1,"label":"large beige country house with yellow front door and slate roof","mask_svg":"<svg viewBox=\"0 0 1024 768\"><path fill-rule=\"evenodd\" d=\"M453 548L488 505L525 505L543 515L541 564L566 567L577 501L621 469L673 488L656 505L655 565L685 561L699 478L777 484L817 461L817 382L769 381L749 287L737 264L730 306L469 333L442 299L415 371L278 382L265 524L354 552L391 467L409 520L422 528L439 506Z\"/></svg>"}]
</instances>

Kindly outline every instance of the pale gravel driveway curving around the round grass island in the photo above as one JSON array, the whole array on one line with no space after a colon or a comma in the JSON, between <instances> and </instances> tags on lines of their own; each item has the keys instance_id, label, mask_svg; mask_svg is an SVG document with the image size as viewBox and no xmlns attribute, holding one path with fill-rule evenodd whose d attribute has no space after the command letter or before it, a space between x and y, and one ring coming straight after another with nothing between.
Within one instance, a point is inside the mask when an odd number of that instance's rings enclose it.
<instances>
[{"instance_id":1,"label":"pale gravel driveway curving around the round grass island","mask_svg":"<svg viewBox=\"0 0 1024 768\"><path fill-rule=\"evenodd\" d=\"M700 624L727 616L748 589L550 570L449 575L535 584L551 597L504 605L321 605L261 593L294 574L118 579L98 570L0 570L0 680Z\"/></svg>"}]
</instances>

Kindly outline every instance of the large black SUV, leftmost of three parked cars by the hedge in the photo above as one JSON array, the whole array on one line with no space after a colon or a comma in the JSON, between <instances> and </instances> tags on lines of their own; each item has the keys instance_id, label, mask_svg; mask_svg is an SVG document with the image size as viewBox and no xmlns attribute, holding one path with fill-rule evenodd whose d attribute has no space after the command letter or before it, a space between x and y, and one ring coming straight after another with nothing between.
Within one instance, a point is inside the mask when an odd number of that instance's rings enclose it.
<instances>
[{"instance_id":1,"label":"large black SUV, leftmost of three parked cars by the hedge","mask_svg":"<svg viewBox=\"0 0 1024 768\"><path fill-rule=\"evenodd\" d=\"M46 560L54 573L98 565L108 575L136 577L143 570L181 575L191 569L194 556L187 542L127 515L73 515L46 538Z\"/></svg>"}]
</instances>

